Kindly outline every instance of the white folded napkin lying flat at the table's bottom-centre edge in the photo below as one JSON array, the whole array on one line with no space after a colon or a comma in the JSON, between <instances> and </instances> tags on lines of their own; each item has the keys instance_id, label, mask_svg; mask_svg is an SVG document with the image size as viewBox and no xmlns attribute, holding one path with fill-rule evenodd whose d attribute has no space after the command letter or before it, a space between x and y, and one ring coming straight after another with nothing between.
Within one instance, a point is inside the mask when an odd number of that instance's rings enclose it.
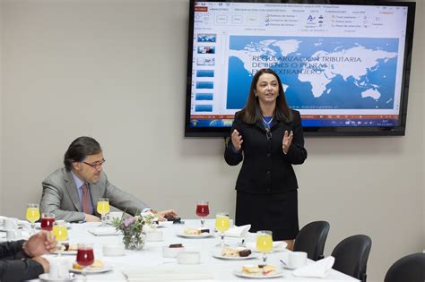
<instances>
[{"instance_id":1,"label":"white folded napkin lying flat at the table's bottom-centre edge","mask_svg":"<svg viewBox=\"0 0 425 282\"><path fill-rule=\"evenodd\" d=\"M214 277L201 266L167 265L123 269L127 281L209 280Z\"/></svg>"}]
</instances>

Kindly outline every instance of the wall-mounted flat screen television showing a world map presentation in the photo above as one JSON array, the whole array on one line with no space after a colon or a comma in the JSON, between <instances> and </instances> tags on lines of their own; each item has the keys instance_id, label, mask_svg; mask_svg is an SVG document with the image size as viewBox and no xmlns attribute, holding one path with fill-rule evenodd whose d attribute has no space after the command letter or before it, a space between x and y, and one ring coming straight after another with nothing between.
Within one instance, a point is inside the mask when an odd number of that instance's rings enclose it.
<instances>
[{"instance_id":1,"label":"wall-mounted flat screen television showing a world map presentation","mask_svg":"<svg viewBox=\"0 0 425 282\"><path fill-rule=\"evenodd\" d=\"M190 1L185 136L229 136L271 68L306 135L404 135L415 3Z\"/></svg>"}]
</instances>

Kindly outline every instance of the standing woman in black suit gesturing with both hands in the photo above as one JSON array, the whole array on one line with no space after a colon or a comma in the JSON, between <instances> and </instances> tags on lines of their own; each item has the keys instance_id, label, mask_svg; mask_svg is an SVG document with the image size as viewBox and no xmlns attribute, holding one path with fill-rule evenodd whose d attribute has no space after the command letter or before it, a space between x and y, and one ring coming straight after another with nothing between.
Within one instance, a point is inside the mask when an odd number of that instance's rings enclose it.
<instances>
[{"instance_id":1,"label":"standing woman in black suit gesturing with both hands","mask_svg":"<svg viewBox=\"0 0 425 282\"><path fill-rule=\"evenodd\" d=\"M273 240L293 248L299 232L297 177L292 165L307 158L301 117L288 107L279 76L256 73L247 105L235 115L224 158L230 166L244 160L236 183L236 225L251 232L272 230Z\"/></svg>"}]
</instances>

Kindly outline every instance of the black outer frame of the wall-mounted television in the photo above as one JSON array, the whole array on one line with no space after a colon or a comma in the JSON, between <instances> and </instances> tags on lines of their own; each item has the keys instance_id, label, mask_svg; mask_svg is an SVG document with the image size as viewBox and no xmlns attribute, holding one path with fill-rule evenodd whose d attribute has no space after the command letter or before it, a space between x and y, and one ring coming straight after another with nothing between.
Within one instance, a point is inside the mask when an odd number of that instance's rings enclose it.
<instances>
[{"instance_id":1,"label":"black outer frame of the wall-mounted television","mask_svg":"<svg viewBox=\"0 0 425 282\"><path fill-rule=\"evenodd\" d=\"M406 39L403 57L402 93L400 100L399 124L395 126L320 126L303 127L305 136L404 136L407 120L407 102L409 97L409 83L412 64L412 46L416 3L393 2L393 1L369 1L369 0L190 0L189 7L189 29L187 48L187 76L186 76L186 115L185 115L185 137L229 137L230 127L192 127L190 126L190 109L192 96L192 61L194 47L194 18L196 2L221 2L221 3L271 3L271 4L348 4L348 5L389 5L408 7L406 21Z\"/></svg>"}]
</instances>

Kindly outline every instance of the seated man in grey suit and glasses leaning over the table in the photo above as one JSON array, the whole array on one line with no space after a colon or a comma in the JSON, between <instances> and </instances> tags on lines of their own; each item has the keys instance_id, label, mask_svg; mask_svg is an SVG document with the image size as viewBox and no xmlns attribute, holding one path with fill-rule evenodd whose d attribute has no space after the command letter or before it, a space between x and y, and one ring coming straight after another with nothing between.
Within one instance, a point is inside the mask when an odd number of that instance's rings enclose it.
<instances>
[{"instance_id":1,"label":"seated man in grey suit and glasses leaning over the table","mask_svg":"<svg viewBox=\"0 0 425 282\"><path fill-rule=\"evenodd\" d=\"M57 169L43 181L40 209L66 221L100 221L96 211L98 199L132 215L152 209L133 195L108 182L102 171L105 162L98 141L91 137L75 139L65 152L65 167ZM172 209L158 212L160 220L175 217Z\"/></svg>"}]
</instances>

